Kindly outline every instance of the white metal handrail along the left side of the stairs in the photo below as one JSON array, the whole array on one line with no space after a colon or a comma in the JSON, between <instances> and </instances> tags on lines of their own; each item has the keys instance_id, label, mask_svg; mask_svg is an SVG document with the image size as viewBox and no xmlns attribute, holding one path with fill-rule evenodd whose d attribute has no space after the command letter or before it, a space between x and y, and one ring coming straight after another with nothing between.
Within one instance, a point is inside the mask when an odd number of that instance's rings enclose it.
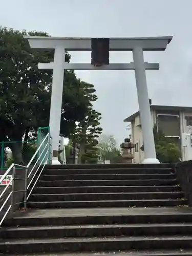
<instances>
[{"instance_id":1,"label":"white metal handrail along the left side of the stairs","mask_svg":"<svg viewBox=\"0 0 192 256\"><path fill-rule=\"evenodd\" d=\"M28 175L28 169L32 163L32 161L34 160L35 156L39 153L39 151L41 150L42 146L44 145L46 139L48 139L48 142L46 143L46 145L44 146L43 150L41 151L41 153L39 154L35 164L33 165L32 169L30 170L30 173ZM3 210L3 208L5 207L6 203L8 202L8 200L11 198L11 203L8 207L8 209L6 210L3 218L0 220L0 226L1 224L3 223L4 219L6 218L6 216L8 215L9 211L12 211L13 210L13 206L16 205L16 204L20 204L20 203L24 203L24 208L26 209L27 208L27 200L29 199L29 196L31 195L32 193L32 190L34 188L34 186L36 185L41 173L42 173L42 170L44 170L44 167L45 165L51 161L51 139L52 137L50 136L50 134L48 133L46 135L46 137L44 138L44 140L42 140L42 142L40 143L39 147L37 148L36 152L34 153L34 155L32 156L31 160L29 161L28 165L25 166L25 165L21 165L21 164L15 164L15 163L12 163L11 166L8 168L8 170L5 172L5 174L3 175L3 177L0 179L0 184L1 182L6 178L7 175L9 175L9 173L11 172L12 170L12 179L9 181L9 183L12 182L12 187L11 187L11 191L9 193L9 195L7 196L7 198L5 199L3 205L1 206L0 208L0 212ZM47 151L45 153L45 156L42 158L42 160L40 159L42 157L42 154L45 152L47 148ZM47 159L45 160L47 156ZM40 160L40 163L39 163L39 160ZM36 178L36 180L34 180L34 178L36 177L36 174L41 166L41 164L43 163L43 161L45 160L44 162L44 165L42 166L41 170L40 170L40 173L38 175L38 177ZM35 174L33 175L33 177L31 178L30 182L29 181L29 178L31 177L31 174L35 168L35 166L38 164L38 167L35 171ZM15 167L16 166L19 166L19 167L22 167L22 168L25 168L25 178L23 179L20 179L20 178L16 178L15 177ZM16 190L14 189L14 185L15 185L15 180L25 180L25 189L23 190ZM30 188L30 185L32 183L32 181L34 181L34 184L32 186L32 188L30 189L30 192L27 196L27 192L29 191L29 188ZM29 184L28 184L29 183ZM4 196L4 194L6 193L6 191L8 191L8 188L9 188L9 184L6 185L6 187L3 189L2 193L0 194L0 199ZM18 202L18 203L14 203L14 193L17 193L17 192L24 192L24 201L23 202Z\"/></svg>"}]
</instances>

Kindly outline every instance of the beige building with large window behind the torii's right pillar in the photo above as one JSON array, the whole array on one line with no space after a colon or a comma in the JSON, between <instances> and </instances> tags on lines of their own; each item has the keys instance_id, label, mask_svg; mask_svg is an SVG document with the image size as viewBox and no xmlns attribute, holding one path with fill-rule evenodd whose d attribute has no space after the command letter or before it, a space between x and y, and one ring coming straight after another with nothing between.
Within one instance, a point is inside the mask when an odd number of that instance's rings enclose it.
<instances>
[{"instance_id":1,"label":"beige building with large window behind the torii's right pillar","mask_svg":"<svg viewBox=\"0 0 192 256\"><path fill-rule=\"evenodd\" d=\"M158 130L179 145L182 160L188 160L186 148L182 142L182 134L192 134L192 107L151 105L151 118L153 125L156 124ZM124 119L124 122L131 122L132 142L135 144L134 163L142 163L144 152L140 149L143 138L139 111Z\"/></svg>"}]
</instances>

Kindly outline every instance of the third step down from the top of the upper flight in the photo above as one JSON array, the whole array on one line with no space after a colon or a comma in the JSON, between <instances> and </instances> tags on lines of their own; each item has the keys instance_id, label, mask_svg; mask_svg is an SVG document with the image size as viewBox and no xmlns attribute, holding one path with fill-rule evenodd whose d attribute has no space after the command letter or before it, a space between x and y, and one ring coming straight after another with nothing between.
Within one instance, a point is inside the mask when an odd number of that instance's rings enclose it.
<instances>
[{"instance_id":1,"label":"third step down from the top of the upper flight","mask_svg":"<svg viewBox=\"0 0 192 256\"><path fill-rule=\"evenodd\" d=\"M42 175L40 180L173 180L174 174L60 174Z\"/></svg>"}]
</instances>

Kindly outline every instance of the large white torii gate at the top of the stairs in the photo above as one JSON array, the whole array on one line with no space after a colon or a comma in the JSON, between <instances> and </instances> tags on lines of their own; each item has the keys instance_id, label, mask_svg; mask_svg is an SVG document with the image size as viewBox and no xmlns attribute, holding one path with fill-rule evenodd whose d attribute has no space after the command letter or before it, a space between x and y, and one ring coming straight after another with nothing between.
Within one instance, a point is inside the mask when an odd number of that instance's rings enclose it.
<instances>
[{"instance_id":1,"label":"large white torii gate at the top of the stairs","mask_svg":"<svg viewBox=\"0 0 192 256\"><path fill-rule=\"evenodd\" d=\"M60 116L63 91L63 76L65 69L73 70L135 70L137 95L143 135L145 159L143 163L159 163L156 158L153 126L146 83L146 70L159 69L158 63L144 62L143 51L164 51L172 36L144 37L144 38L110 38L110 51L132 51L134 62L110 63L95 67L91 63L67 63L66 51L91 51L91 38L66 38L25 36L31 48L38 50L55 50L54 62L39 63L39 69L53 69L53 85L51 94L50 131L52 136L53 159L58 161L58 144L60 130Z\"/></svg>"}]
</instances>

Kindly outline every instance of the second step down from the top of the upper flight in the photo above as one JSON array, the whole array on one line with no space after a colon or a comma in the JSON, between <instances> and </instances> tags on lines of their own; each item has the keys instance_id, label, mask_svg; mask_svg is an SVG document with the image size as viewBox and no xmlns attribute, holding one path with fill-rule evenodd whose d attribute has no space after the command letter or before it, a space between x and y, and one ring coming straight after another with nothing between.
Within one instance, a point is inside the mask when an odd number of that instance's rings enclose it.
<instances>
[{"instance_id":1,"label":"second step down from the top of the upper flight","mask_svg":"<svg viewBox=\"0 0 192 256\"><path fill-rule=\"evenodd\" d=\"M87 168L87 169L63 169L52 168L44 169L44 174L62 175L62 174L170 174L171 168Z\"/></svg>"}]
</instances>

